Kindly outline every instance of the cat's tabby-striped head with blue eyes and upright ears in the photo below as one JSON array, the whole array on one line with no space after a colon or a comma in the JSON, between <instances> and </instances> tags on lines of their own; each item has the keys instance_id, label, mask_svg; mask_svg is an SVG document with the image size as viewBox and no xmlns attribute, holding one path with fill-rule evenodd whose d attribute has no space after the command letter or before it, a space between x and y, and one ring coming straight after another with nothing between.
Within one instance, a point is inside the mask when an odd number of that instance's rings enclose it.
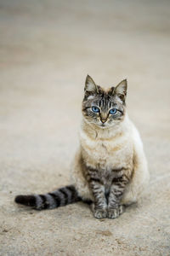
<instances>
[{"instance_id":1,"label":"cat's tabby-striped head with blue eyes and upright ears","mask_svg":"<svg viewBox=\"0 0 170 256\"><path fill-rule=\"evenodd\" d=\"M104 90L87 76L82 101L84 119L100 128L116 125L124 118L126 95L127 80L123 80L116 87Z\"/></svg>"}]
</instances>

